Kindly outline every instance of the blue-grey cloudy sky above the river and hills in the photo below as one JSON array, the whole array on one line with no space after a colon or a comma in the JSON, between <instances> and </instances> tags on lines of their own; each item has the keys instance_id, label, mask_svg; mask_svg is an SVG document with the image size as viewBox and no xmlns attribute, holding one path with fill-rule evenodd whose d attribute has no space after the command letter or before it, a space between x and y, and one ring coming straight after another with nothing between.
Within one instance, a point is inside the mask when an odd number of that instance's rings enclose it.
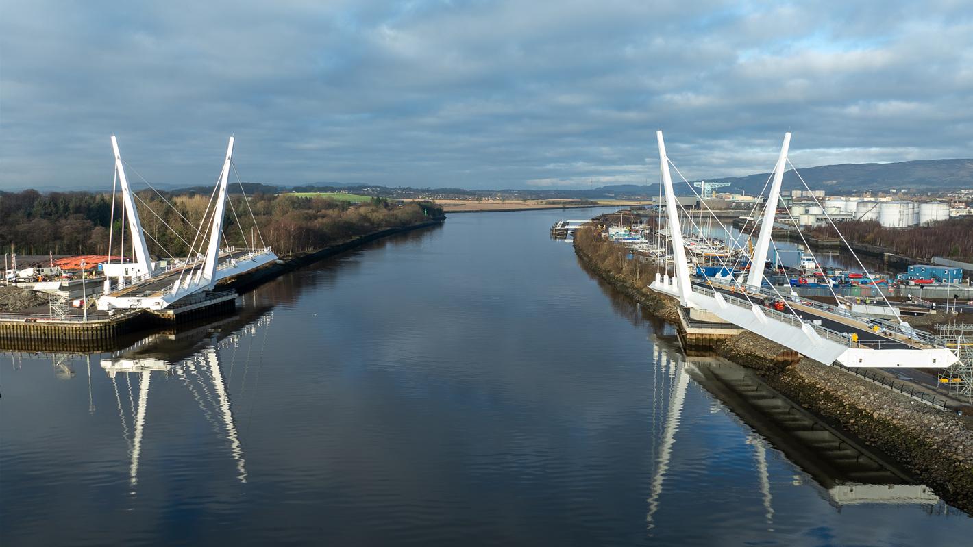
<instances>
[{"instance_id":1,"label":"blue-grey cloudy sky above the river and hills","mask_svg":"<svg viewBox=\"0 0 973 547\"><path fill-rule=\"evenodd\" d=\"M964 1L0 0L0 189L655 183L973 157ZM130 179L137 177L129 173Z\"/></svg>"}]
</instances>

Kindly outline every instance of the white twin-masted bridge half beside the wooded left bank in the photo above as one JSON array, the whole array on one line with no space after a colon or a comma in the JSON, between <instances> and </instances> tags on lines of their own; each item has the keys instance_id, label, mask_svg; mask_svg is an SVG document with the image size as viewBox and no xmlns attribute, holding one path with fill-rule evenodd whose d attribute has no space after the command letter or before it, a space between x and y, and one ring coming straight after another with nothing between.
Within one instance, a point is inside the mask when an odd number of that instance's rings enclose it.
<instances>
[{"instance_id":1,"label":"white twin-masted bridge half beside the wooded left bank","mask_svg":"<svg viewBox=\"0 0 973 547\"><path fill-rule=\"evenodd\" d=\"M98 310L108 312L130 309L162 310L187 296L212 290L221 280L261 267L277 258L270 251L270 247L263 245L263 235L260 237L262 243L260 247L251 237L251 248L225 247L222 250L220 249L220 241L224 239L223 226L227 203L230 201L227 196L227 188L234 153L234 137L230 137L223 170L220 172L216 187L213 188L210 195L206 211L200 221L201 224L196 226L196 237L192 243L183 240L189 247L189 256L186 258L172 257L164 265L161 262L153 262L151 256L149 256L149 249L145 241L146 233L142 229L135 204L135 200L140 200L140 198L128 184L125 164L122 161L122 154L119 153L118 141L114 135L112 136L112 149L115 153L115 175L122 187L123 215L126 217L128 232L131 234L130 245L133 259L104 265L106 280L103 295L97 300ZM240 188L242 189L242 185L240 185ZM162 194L159 195L162 197ZM245 198L246 194L244 194ZM162 199L168 203L164 197ZM113 198L113 223L114 203ZM171 204L169 205L171 206ZM233 203L231 203L231 208L233 208ZM247 204L247 208L249 209L249 204ZM159 217L151 208L149 212ZM180 216L182 215L180 214ZM252 211L251 218L253 218ZM206 229L207 219L210 220L208 230ZM159 217L159 220L166 227L172 229L161 217ZM185 217L183 217L183 220L189 222ZM256 227L255 219L254 224ZM182 239L178 232L172 231ZM207 231L208 238L205 235ZM259 234L259 228L257 228L257 233ZM243 240L246 241L245 234L243 234ZM202 252L204 246L205 253ZM110 250L111 239L109 239L109 254L111 254ZM122 232L122 254L125 255L125 224L123 224Z\"/></svg>"}]
</instances>

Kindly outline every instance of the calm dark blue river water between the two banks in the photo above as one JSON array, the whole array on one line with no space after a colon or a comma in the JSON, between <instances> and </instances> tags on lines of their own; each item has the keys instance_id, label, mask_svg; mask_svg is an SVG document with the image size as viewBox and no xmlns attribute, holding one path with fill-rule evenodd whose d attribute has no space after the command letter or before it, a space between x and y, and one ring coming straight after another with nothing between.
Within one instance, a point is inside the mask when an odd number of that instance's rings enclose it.
<instances>
[{"instance_id":1,"label":"calm dark blue river water between the two banks","mask_svg":"<svg viewBox=\"0 0 973 547\"><path fill-rule=\"evenodd\" d=\"M116 354L0 354L0 545L968 545L847 504L548 238L454 215Z\"/></svg>"}]
</instances>

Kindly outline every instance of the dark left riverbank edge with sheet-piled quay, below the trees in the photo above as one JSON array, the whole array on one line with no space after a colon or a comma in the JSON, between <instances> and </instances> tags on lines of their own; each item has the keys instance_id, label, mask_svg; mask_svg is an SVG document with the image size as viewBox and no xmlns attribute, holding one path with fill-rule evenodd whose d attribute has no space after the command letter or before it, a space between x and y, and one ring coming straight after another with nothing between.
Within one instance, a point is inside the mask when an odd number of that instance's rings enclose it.
<instances>
[{"instance_id":1,"label":"dark left riverbank edge with sheet-piled quay, below the trees","mask_svg":"<svg viewBox=\"0 0 973 547\"><path fill-rule=\"evenodd\" d=\"M46 309L34 314L8 314L0 317L0 348L62 352L111 350L160 325L177 325L202 317L225 314L233 308L234 298L230 298L230 295L235 297L240 291L253 289L322 258L339 255L383 237L439 225L445 221L446 217L440 217L406 226L384 228L314 252L286 256L257 270L221 281L215 291L199 299L180 302L162 312L126 311L87 322L78 317L53 320Z\"/></svg>"}]
</instances>

